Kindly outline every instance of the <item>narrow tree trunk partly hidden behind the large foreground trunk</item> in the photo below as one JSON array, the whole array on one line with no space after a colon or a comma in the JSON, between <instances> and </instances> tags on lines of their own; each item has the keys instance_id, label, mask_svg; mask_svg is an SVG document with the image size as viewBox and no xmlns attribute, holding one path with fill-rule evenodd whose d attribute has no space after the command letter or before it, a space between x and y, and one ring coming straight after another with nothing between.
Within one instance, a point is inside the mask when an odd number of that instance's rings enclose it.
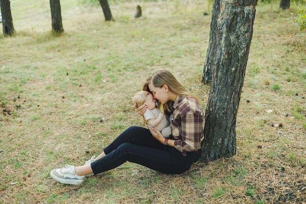
<instances>
[{"instance_id":1,"label":"narrow tree trunk partly hidden behind the large foreground trunk","mask_svg":"<svg viewBox=\"0 0 306 204\"><path fill-rule=\"evenodd\" d=\"M216 48L217 38L217 20L220 11L220 0L214 0L212 10L212 21L210 23L209 45L206 54L206 60L203 69L202 82L204 84L212 83L212 64L214 60L214 53Z\"/></svg>"}]
</instances>

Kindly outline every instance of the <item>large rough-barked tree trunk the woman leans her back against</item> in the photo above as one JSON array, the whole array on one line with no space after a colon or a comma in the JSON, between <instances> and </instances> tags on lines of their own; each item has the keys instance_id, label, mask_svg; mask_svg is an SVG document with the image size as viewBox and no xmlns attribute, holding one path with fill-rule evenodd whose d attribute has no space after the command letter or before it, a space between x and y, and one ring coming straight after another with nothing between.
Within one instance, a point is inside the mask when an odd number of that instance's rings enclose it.
<instances>
[{"instance_id":1,"label":"large rough-barked tree trunk the woman leans her back against","mask_svg":"<svg viewBox=\"0 0 306 204\"><path fill-rule=\"evenodd\" d=\"M258 0L221 0L200 161L236 154L236 118Z\"/></svg>"}]
</instances>

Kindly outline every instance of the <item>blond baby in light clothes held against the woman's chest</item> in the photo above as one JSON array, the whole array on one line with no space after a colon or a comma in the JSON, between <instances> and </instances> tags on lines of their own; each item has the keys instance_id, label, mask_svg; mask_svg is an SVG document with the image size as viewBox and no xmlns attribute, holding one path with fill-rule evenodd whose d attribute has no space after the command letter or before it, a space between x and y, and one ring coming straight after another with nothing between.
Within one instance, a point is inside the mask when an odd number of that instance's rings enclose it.
<instances>
[{"instance_id":1,"label":"blond baby in light clothes held against the woman's chest","mask_svg":"<svg viewBox=\"0 0 306 204\"><path fill-rule=\"evenodd\" d=\"M155 107L155 99L153 99L153 95L150 92L138 91L132 97L132 101L136 104L136 107L143 104L148 107L143 116L149 126L156 128L166 138L172 134L170 121L164 113L161 113L160 110Z\"/></svg>"}]
</instances>

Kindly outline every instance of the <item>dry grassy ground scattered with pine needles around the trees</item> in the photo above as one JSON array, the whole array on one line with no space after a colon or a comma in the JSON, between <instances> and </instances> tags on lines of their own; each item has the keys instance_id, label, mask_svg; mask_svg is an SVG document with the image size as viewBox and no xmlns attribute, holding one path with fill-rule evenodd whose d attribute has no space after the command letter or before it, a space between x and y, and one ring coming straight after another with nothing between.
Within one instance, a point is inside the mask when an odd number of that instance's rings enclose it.
<instances>
[{"instance_id":1,"label":"dry grassy ground scattered with pine needles around the trees","mask_svg":"<svg viewBox=\"0 0 306 204\"><path fill-rule=\"evenodd\" d=\"M50 171L83 165L127 127L144 126L131 96L168 69L201 99L211 4L61 0L65 33L51 34L48 0L11 2L15 37L0 39L0 203L306 204L306 35L296 8L259 2L237 116L237 154L181 175L127 162L79 186ZM207 12L209 15L204 16ZM2 35L2 33L0 33Z\"/></svg>"}]
</instances>

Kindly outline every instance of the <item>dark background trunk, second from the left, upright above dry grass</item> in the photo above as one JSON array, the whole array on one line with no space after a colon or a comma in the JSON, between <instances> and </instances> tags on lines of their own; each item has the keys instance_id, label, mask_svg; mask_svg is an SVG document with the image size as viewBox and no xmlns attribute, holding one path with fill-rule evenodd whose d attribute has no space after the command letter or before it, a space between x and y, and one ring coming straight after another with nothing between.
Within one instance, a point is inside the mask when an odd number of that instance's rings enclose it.
<instances>
[{"instance_id":1,"label":"dark background trunk, second from the left, upright above dry grass","mask_svg":"<svg viewBox=\"0 0 306 204\"><path fill-rule=\"evenodd\" d=\"M50 0L52 31L56 33L64 32L62 24L60 0Z\"/></svg>"}]
</instances>

